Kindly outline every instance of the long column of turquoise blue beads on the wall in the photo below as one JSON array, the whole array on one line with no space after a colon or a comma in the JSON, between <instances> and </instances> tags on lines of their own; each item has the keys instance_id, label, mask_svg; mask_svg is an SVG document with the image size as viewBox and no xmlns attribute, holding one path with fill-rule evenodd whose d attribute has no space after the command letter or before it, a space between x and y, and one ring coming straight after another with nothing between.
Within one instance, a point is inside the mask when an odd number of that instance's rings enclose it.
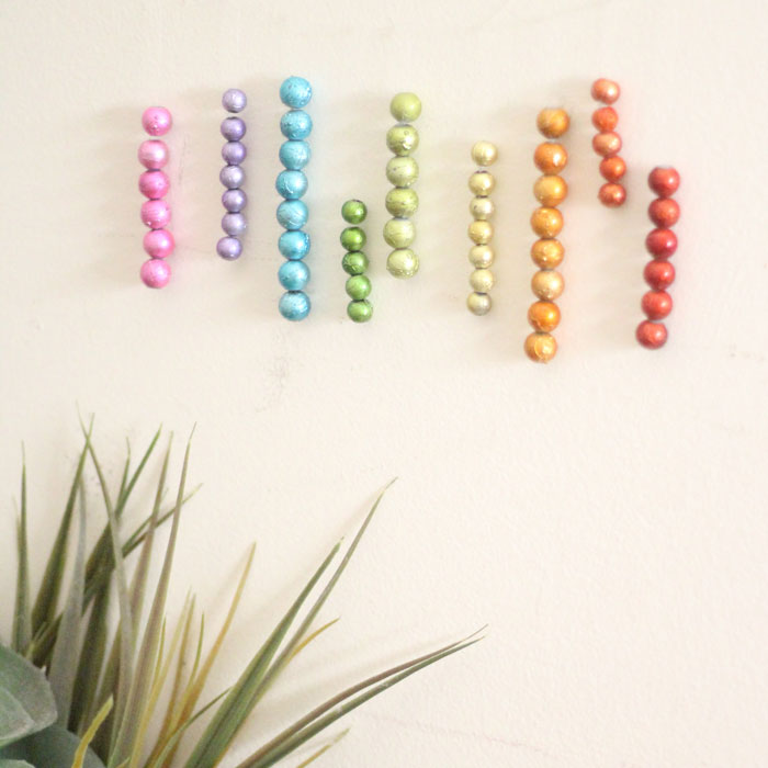
<instances>
[{"instance_id":1,"label":"long column of turquoise blue beads on the wall","mask_svg":"<svg viewBox=\"0 0 768 768\"><path fill-rule=\"evenodd\" d=\"M303 168L309 161L306 138L312 133L312 117L302 109L312 99L312 86L302 77L286 78L280 87L280 100L290 111L280 121L280 131L287 139L280 147L280 160L285 167L274 182L283 202L278 206L278 222L285 231L278 248L287 259L280 267L278 279L285 289L280 297L280 314L287 320L303 320L309 314L309 296L304 292L309 282L309 268L304 257L309 252L309 236L302 231L309 212L301 200L307 191Z\"/></svg>"}]
</instances>

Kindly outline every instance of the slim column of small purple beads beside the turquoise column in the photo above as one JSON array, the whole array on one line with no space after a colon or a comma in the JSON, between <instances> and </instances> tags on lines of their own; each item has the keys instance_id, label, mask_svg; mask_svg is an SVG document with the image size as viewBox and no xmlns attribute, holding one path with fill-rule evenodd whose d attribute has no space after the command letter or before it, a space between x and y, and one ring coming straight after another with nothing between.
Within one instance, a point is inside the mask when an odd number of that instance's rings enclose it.
<instances>
[{"instance_id":1,"label":"slim column of small purple beads beside the turquoise column","mask_svg":"<svg viewBox=\"0 0 768 768\"><path fill-rule=\"evenodd\" d=\"M227 112L238 113L246 109L248 100L246 94L238 88L230 88L224 91L222 105ZM234 261L242 252L240 238L247 229L246 217L242 208L246 206L247 197L242 191L242 182L246 174L240 163L246 159L246 145L241 139L246 135L246 124L240 117L225 117L222 121L222 135L227 143L222 147L222 157L227 165L222 168L218 174L226 190L222 195L222 203L226 210L222 218L222 229L226 237L216 244L216 252L227 261Z\"/></svg>"}]
</instances>

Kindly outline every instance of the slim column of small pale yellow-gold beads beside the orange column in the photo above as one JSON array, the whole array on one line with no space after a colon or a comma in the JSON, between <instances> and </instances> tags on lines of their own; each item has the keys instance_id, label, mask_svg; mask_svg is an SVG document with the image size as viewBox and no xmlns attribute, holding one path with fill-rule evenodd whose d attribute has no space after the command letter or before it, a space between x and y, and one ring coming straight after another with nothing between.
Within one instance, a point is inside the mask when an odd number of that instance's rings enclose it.
<instances>
[{"instance_id":1,"label":"slim column of small pale yellow-gold beads beside the orange column","mask_svg":"<svg viewBox=\"0 0 768 768\"><path fill-rule=\"evenodd\" d=\"M470 201L470 214L474 219L470 224L468 235L474 244L470 249L470 261L475 268L470 275L472 293L466 298L466 306L473 315L490 312L489 291L494 286L494 250L490 241L494 228L488 221L494 215L494 203L488 196L496 185L488 167L496 162L498 151L490 142L477 142L472 147L472 159L479 166L470 177L470 190L474 197Z\"/></svg>"}]
</instances>

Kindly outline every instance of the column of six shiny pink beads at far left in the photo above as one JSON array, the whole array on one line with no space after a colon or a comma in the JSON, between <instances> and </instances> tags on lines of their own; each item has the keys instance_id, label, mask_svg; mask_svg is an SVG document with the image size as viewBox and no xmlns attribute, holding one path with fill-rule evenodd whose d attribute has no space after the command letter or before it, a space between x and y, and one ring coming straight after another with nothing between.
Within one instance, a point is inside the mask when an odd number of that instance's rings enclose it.
<instances>
[{"instance_id":1,"label":"column of six shiny pink beads at far left","mask_svg":"<svg viewBox=\"0 0 768 768\"><path fill-rule=\"evenodd\" d=\"M150 136L165 136L172 124L171 113L165 106L149 106L142 115L142 125ZM149 227L144 236L144 250L149 259L142 264L142 282L148 287L165 287L171 278L166 258L176 245L167 229L171 208L163 200L170 189L170 180L162 170L168 162L168 145L158 138L142 142L138 161L147 169L138 177L138 189L147 197L142 205L142 221Z\"/></svg>"}]
</instances>

